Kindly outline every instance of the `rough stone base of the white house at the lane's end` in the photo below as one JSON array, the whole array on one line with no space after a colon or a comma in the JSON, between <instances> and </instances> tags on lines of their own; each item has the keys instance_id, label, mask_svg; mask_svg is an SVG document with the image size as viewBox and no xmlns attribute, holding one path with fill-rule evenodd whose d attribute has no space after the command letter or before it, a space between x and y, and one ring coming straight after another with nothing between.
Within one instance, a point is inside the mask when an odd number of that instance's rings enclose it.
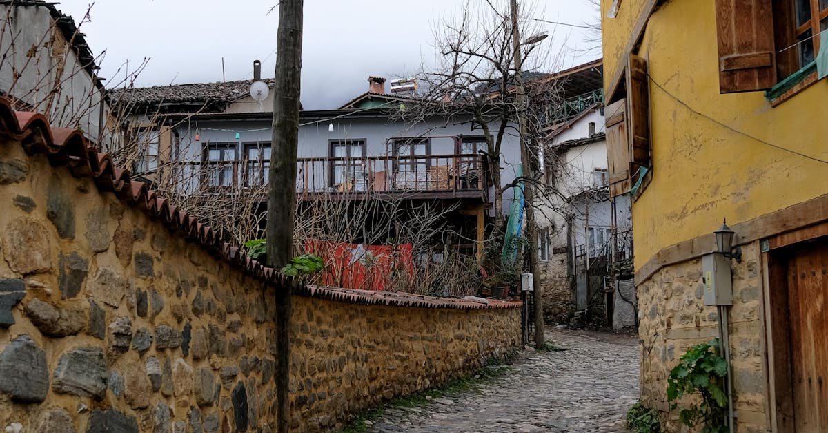
<instances>
[{"instance_id":1,"label":"rough stone base of the white house at the lane's end","mask_svg":"<svg viewBox=\"0 0 828 433\"><path fill-rule=\"evenodd\" d=\"M543 319L547 324L568 324L575 312L575 298L569 275L569 253L551 254L537 264L543 288Z\"/></svg>"}]
</instances>

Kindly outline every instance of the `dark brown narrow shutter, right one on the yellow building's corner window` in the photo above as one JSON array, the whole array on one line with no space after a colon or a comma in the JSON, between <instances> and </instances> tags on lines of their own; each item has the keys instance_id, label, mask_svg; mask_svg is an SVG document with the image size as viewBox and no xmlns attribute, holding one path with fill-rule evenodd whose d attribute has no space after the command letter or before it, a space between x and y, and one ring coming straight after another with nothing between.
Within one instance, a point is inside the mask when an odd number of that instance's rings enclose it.
<instances>
[{"instance_id":1,"label":"dark brown narrow shutter, right one on the yellow building's corner window","mask_svg":"<svg viewBox=\"0 0 828 433\"><path fill-rule=\"evenodd\" d=\"M647 62L630 54L627 60L627 119L629 128L629 162L634 172L650 167L650 94L647 86Z\"/></svg>"}]
</instances>

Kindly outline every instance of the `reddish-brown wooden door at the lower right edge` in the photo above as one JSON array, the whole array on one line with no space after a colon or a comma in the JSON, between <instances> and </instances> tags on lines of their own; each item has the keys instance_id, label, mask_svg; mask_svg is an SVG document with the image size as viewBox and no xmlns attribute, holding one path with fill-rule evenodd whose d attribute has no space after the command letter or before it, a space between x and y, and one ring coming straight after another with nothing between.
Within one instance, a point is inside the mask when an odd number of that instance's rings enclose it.
<instances>
[{"instance_id":1,"label":"reddish-brown wooden door at the lower right edge","mask_svg":"<svg viewBox=\"0 0 828 433\"><path fill-rule=\"evenodd\" d=\"M796 247L787 262L796 431L828 431L828 241Z\"/></svg>"}]
</instances>

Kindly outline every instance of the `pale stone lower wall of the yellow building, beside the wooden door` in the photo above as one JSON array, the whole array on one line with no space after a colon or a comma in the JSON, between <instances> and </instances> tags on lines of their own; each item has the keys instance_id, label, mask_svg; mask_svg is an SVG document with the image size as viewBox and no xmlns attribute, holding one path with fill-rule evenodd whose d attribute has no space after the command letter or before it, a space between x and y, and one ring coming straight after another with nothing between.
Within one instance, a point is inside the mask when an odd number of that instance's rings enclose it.
<instances>
[{"instance_id":1,"label":"pale stone lower wall of the yellow building, beside the wooden door","mask_svg":"<svg viewBox=\"0 0 828 433\"><path fill-rule=\"evenodd\" d=\"M741 264L732 262L734 304L729 307L736 431L767 431L758 242L743 246L742 253ZM669 431L680 431L678 409L670 411L667 403L670 370L688 348L718 336L716 309L704 306L703 289L700 259L664 267L638 285L641 395L647 406L662 411Z\"/></svg>"}]
</instances>

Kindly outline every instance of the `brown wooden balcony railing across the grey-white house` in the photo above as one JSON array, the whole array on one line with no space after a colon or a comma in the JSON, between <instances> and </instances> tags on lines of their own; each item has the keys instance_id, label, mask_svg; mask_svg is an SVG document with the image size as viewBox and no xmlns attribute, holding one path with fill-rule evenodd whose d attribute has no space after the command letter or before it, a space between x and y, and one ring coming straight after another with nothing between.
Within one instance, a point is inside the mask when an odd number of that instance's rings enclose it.
<instances>
[{"instance_id":1,"label":"brown wooden balcony railing across the grey-white house","mask_svg":"<svg viewBox=\"0 0 828 433\"><path fill-rule=\"evenodd\" d=\"M347 195L368 192L440 197L480 197L489 188L480 155L299 158L296 192ZM267 184L269 162L167 163L167 179L179 192L232 192Z\"/></svg>"}]
</instances>

